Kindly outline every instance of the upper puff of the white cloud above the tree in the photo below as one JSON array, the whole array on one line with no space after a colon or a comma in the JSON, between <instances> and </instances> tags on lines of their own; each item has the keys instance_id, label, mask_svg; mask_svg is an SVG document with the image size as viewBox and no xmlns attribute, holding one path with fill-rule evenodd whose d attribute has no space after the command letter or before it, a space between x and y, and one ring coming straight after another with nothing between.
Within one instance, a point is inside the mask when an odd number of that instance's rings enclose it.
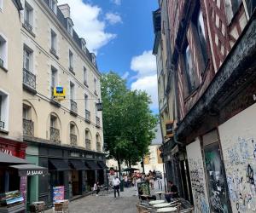
<instances>
[{"instance_id":1,"label":"upper puff of the white cloud above the tree","mask_svg":"<svg viewBox=\"0 0 256 213\"><path fill-rule=\"evenodd\" d=\"M131 59L131 70L138 72L139 77L152 75L156 72L155 56L152 51L144 51Z\"/></svg>"}]
</instances>

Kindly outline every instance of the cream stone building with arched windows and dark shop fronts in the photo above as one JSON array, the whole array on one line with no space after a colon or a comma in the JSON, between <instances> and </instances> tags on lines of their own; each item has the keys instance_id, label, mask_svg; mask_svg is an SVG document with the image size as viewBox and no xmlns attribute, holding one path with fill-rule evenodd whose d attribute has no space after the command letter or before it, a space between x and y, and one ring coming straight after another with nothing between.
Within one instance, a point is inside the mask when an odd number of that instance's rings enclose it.
<instances>
[{"instance_id":1,"label":"cream stone building with arched windows and dark shop fronts","mask_svg":"<svg viewBox=\"0 0 256 213\"><path fill-rule=\"evenodd\" d=\"M107 179L96 56L73 30L67 4L0 1L0 10L1 151L48 168L27 177L27 204L51 204L58 186L66 199L84 195Z\"/></svg>"}]
</instances>

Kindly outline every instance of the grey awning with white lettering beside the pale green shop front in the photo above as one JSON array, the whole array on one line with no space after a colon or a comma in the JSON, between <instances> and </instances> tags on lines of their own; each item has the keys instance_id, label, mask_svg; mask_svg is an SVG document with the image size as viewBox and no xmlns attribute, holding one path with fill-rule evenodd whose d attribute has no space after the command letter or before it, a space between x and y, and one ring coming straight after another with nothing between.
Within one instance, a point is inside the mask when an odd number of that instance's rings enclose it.
<instances>
[{"instance_id":1,"label":"grey awning with white lettering beside the pale green shop front","mask_svg":"<svg viewBox=\"0 0 256 213\"><path fill-rule=\"evenodd\" d=\"M11 165L10 168L19 170L19 176L44 176L47 175L47 168L35 164Z\"/></svg>"}]
</instances>

